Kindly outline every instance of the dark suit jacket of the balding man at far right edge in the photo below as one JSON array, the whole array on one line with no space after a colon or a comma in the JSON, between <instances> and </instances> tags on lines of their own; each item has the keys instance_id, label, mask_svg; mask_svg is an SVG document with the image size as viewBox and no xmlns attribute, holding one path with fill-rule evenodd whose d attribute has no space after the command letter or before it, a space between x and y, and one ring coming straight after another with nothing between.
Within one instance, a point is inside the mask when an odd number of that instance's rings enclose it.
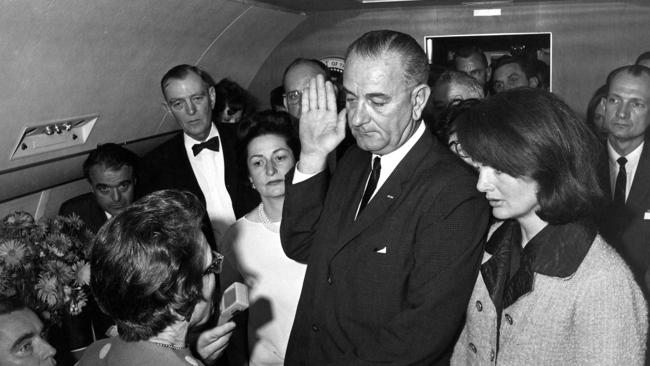
<instances>
[{"instance_id":1,"label":"dark suit jacket of the balding man at far right edge","mask_svg":"<svg viewBox=\"0 0 650 366\"><path fill-rule=\"evenodd\" d=\"M607 149L600 159L600 181L603 191L610 198L600 217L602 236L615 247L627 261L643 288L646 298L650 299L650 284L645 280L650 271L650 141L646 138L634 174L632 188L625 201L625 207L611 203L612 187L609 178L609 157Z\"/></svg>"}]
</instances>

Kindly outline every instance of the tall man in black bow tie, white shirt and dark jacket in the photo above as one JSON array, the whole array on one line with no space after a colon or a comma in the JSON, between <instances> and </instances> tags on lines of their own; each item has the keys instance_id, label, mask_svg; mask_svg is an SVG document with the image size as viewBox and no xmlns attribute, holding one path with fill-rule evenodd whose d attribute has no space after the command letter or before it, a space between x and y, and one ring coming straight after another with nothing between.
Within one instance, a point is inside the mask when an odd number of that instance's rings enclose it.
<instances>
[{"instance_id":1,"label":"tall man in black bow tie, white shirt and dark jacket","mask_svg":"<svg viewBox=\"0 0 650 366\"><path fill-rule=\"evenodd\" d=\"M190 65L175 66L163 76L163 107L183 133L144 157L140 193L173 188L196 194L209 216L205 236L218 249L226 229L255 207L259 198L240 179L236 136L219 131L212 121L213 84L205 71Z\"/></svg>"}]
</instances>

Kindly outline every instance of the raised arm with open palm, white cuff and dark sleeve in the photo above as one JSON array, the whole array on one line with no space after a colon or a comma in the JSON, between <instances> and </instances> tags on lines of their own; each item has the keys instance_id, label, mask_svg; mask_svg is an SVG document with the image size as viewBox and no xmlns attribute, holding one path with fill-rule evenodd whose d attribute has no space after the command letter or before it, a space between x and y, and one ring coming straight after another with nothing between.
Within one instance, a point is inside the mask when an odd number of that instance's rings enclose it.
<instances>
[{"instance_id":1,"label":"raised arm with open palm, white cuff and dark sleeve","mask_svg":"<svg viewBox=\"0 0 650 366\"><path fill-rule=\"evenodd\" d=\"M332 83L322 75L310 81L301 103L300 160L285 179L280 236L287 256L306 263L329 181L327 155L345 137L346 117L345 110L337 113Z\"/></svg>"}]
</instances>

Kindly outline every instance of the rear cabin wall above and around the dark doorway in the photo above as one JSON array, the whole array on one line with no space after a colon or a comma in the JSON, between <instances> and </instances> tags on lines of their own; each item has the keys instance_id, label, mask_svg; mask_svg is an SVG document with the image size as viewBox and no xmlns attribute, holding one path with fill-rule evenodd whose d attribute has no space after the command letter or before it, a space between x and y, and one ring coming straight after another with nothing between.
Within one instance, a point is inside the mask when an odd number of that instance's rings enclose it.
<instances>
[{"instance_id":1,"label":"rear cabin wall above and around the dark doorway","mask_svg":"<svg viewBox=\"0 0 650 366\"><path fill-rule=\"evenodd\" d=\"M394 29L422 45L430 35L552 32L553 89L580 113L615 67L650 50L650 8L643 2L563 1L502 6L500 17L474 17L466 6L321 12L311 15L271 53L250 89L267 95L296 57L342 56L361 34Z\"/></svg>"}]
</instances>

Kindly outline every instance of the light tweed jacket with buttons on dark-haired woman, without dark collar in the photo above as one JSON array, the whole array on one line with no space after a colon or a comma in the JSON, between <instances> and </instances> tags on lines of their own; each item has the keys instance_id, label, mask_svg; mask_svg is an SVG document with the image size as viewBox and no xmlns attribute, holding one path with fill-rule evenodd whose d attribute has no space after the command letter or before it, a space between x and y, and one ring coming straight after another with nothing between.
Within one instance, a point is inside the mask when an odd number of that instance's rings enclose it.
<instances>
[{"instance_id":1,"label":"light tweed jacket with buttons on dark-haired woman, without dark collar","mask_svg":"<svg viewBox=\"0 0 650 366\"><path fill-rule=\"evenodd\" d=\"M566 277L535 272L532 291L504 307L500 317L482 268L451 364L643 365L648 324L643 294L599 235L587 250ZM569 256L565 252L561 260ZM484 265L489 259L486 253Z\"/></svg>"}]
</instances>

